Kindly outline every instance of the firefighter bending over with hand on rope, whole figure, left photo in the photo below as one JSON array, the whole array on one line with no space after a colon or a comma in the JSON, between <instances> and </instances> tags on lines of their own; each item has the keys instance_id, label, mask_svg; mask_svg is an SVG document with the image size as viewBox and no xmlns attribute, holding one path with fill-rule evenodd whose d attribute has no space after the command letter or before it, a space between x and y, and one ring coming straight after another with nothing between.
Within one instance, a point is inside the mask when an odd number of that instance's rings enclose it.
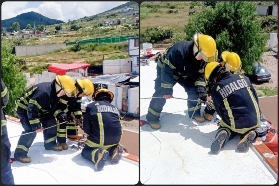
<instances>
[{"instance_id":1,"label":"firefighter bending over with hand on rope, whole figure, left photo","mask_svg":"<svg viewBox=\"0 0 279 186\"><path fill-rule=\"evenodd\" d=\"M31 162L27 157L38 132L56 125L55 116L62 120L63 114L55 115L58 97L67 95L75 96L75 85L70 76L56 76L52 82L44 82L34 85L16 99L16 114L19 117L26 134L32 131L36 133L20 136L14 153L14 158L22 163ZM67 120L66 117L63 119ZM43 127L43 128L42 128ZM46 150L61 151L62 145L56 143L56 127L44 130L44 147Z\"/></svg>"}]
</instances>

